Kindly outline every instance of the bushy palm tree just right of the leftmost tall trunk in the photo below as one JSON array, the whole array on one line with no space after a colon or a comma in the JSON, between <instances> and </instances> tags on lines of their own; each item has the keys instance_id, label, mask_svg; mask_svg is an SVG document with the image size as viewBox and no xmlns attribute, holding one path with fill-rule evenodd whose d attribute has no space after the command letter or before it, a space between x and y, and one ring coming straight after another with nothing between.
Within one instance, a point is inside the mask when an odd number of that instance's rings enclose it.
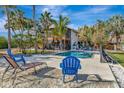
<instances>
[{"instance_id":1,"label":"bushy palm tree just right of the leftmost tall trunk","mask_svg":"<svg viewBox=\"0 0 124 93\"><path fill-rule=\"evenodd\" d=\"M24 12L22 10L17 9L13 11L13 15L11 18L12 20L10 21L10 23L13 23L13 25L11 24L13 28L13 32L15 33L15 36L19 41L18 43L20 45L20 48L23 51L25 46L23 45L23 32L25 26ZM16 31L18 32L18 34L16 34Z\"/></svg>"}]
</instances>

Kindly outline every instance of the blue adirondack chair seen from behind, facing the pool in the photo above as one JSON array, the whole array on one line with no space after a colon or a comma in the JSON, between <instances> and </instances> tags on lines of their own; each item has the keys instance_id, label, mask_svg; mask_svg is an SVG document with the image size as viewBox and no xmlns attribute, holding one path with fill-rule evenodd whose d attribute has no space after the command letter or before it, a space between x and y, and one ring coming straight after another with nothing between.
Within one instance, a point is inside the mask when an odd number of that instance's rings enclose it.
<instances>
[{"instance_id":1,"label":"blue adirondack chair seen from behind, facing the pool","mask_svg":"<svg viewBox=\"0 0 124 93\"><path fill-rule=\"evenodd\" d=\"M65 82L65 75L75 75L76 81L78 82L78 69L81 69L80 60L74 56L68 56L60 63L62 68L63 82Z\"/></svg>"}]
</instances>

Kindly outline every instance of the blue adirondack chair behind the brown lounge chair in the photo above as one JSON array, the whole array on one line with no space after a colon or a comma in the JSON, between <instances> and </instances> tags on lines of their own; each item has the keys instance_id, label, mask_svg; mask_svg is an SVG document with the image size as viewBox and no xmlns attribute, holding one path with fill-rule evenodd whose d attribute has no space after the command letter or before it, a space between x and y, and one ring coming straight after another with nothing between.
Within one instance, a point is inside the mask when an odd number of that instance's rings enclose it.
<instances>
[{"instance_id":1,"label":"blue adirondack chair behind the brown lounge chair","mask_svg":"<svg viewBox=\"0 0 124 93\"><path fill-rule=\"evenodd\" d=\"M23 62L26 64L23 54L14 55L10 49L7 49L7 54L15 61L15 62Z\"/></svg>"}]
</instances>

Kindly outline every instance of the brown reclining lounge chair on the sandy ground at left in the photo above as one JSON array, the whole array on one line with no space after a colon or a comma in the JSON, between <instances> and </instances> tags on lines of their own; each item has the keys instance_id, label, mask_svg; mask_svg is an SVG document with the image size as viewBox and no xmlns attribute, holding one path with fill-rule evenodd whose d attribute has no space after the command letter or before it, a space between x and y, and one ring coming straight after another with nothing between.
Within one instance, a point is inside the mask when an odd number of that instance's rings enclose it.
<instances>
[{"instance_id":1,"label":"brown reclining lounge chair on the sandy ground at left","mask_svg":"<svg viewBox=\"0 0 124 93\"><path fill-rule=\"evenodd\" d=\"M18 65L10 56L8 55L4 55L3 58L5 58L6 62L9 63L9 65L7 66L7 68L5 69L3 75L2 75L2 84L3 84L3 79L4 79L4 76L5 74L10 71L10 70L13 70L12 71L12 75L11 76L14 76L13 77L13 83L12 85L14 84L15 80L16 80L16 76L19 72L23 72L23 71L27 71L28 69L31 69L31 68L34 68L34 72L37 73L36 71L36 66L40 66L40 65L43 65L45 64L47 66L46 63L44 62L35 62L35 63L27 63L25 65Z\"/></svg>"}]
</instances>

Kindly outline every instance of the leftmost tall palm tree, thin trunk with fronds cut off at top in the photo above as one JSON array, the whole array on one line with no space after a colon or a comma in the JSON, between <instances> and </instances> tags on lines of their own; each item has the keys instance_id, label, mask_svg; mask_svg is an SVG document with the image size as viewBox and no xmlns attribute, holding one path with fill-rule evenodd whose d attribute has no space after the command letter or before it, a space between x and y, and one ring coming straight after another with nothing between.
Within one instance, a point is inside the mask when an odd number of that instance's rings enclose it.
<instances>
[{"instance_id":1,"label":"leftmost tall palm tree, thin trunk with fronds cut off at top","mask_svg":"<svg viewBox=\"0 0 124 93\"><path fill-rule=\"evenodd\" d=\"M15 8L16 6L10 6L10 5L4 5L2 8L4 9L4 12L7 17L7 23L8 23L8 49L11 49L11 29L10 29L10 11L11 9Z\"/></svg>"}]
</instances>

